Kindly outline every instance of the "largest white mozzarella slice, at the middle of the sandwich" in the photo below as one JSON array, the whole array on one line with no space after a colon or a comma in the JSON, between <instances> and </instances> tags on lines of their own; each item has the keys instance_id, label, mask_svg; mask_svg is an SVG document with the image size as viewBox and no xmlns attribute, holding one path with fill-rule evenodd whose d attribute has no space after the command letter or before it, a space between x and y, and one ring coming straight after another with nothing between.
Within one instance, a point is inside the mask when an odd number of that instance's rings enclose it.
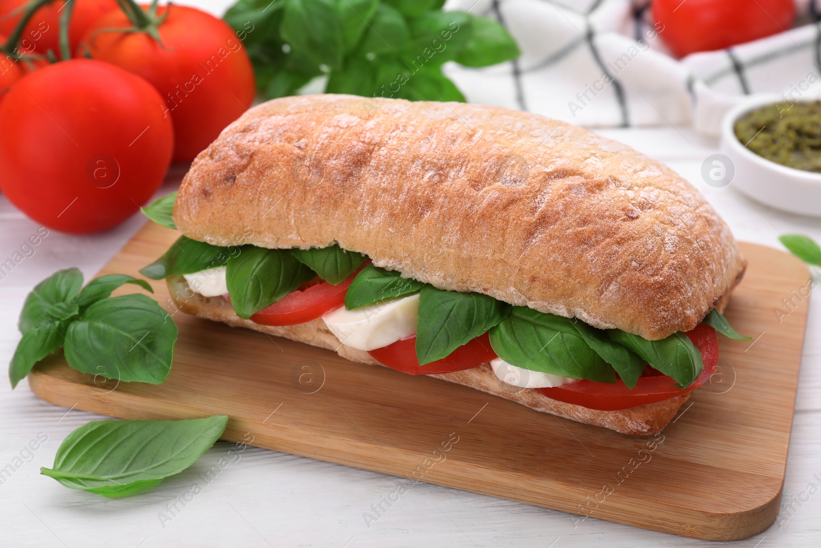
<instances>
[{"instance_id":1,"label":"largest white mozzarella slice, at the middle of the sandwich","mask_svg":"<svg viewBox=\"0 0 821 548\"><path fill-rule=\"evenodd\" d=\"M349 311L345 306L322 316L340 343L374 350L416 333L419 293Z\"/></svg>"}]
</instances>

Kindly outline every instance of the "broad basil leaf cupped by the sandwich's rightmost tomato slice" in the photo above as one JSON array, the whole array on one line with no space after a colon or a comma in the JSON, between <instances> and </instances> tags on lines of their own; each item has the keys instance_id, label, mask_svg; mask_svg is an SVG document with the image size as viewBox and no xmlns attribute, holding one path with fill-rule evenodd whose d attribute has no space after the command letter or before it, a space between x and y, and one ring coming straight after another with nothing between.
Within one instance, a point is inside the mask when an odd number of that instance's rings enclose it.
<instances>
[{"instance_id":1,"label":"broad basil leaf cupped by the sandwich's rightmost tomato slice","mask_svg":"<svg viewBox=\"0 0 821 548\"><path fill-rule=\"evenodd\" d=\"M701 352L681 331L660 341L649 341L621 329L608 329L608 335L643 357L664 375L672 377L680 389L690 386L704 368Z\"/></svg>"}]
</instances>

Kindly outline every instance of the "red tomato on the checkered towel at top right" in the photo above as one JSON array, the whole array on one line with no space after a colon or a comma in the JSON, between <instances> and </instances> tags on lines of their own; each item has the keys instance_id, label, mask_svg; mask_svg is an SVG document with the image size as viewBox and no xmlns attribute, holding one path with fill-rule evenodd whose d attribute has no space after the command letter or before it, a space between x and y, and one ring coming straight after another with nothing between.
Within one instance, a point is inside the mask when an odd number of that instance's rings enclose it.
<instances>
[{"instance_id":1,"label":"red tomato on the checkered towel at top right","mask_svg":"<svg viewBox=\"0 0 821 548\"><path fill-rule=\"evenodd\" d=\"M677 57L777 34L796 16L794 0L654 0L652 9Z\"/></svg>"}]
</instances>

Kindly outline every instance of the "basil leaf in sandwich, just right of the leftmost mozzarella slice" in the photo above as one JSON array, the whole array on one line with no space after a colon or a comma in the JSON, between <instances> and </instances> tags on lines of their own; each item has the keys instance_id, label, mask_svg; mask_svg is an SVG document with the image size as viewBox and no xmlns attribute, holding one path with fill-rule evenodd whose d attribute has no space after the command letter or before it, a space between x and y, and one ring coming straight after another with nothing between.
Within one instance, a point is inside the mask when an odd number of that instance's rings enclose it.
<instances>
[{"instance_id":1,"label":"basil leaf in sandwich, just right of the leftmost mozzarella slice","mask_svg":"<svg viewBox=\"0 0 821 548\"><path fill-rule=\"evenodd\" d=\"M316 275L289 249L240 249L240 254L228 261L226 281L231 304L241 318L250 318Z\"/></svg>"}]
</instances>

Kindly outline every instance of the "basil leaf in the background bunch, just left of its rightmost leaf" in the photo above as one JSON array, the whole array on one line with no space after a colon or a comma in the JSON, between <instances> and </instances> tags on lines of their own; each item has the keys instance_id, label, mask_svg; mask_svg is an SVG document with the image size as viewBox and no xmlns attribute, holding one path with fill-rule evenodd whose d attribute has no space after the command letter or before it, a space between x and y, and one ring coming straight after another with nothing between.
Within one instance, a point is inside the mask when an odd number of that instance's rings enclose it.
<instances>
[{"instance_id":1,"label":"basil leaf in the background bunch, just left of its rightmost leaf","mask_svg":"<svg viewBox=\"0 0 821 548\"><path fill-rule=\"evenodd\" d=\"M402 58L414 71L453 61L470 39L473 17L466 12L424 12L408 19L410 44ZM414 63L415 62L415 63Z\"/></svg>"}]
</instances>

